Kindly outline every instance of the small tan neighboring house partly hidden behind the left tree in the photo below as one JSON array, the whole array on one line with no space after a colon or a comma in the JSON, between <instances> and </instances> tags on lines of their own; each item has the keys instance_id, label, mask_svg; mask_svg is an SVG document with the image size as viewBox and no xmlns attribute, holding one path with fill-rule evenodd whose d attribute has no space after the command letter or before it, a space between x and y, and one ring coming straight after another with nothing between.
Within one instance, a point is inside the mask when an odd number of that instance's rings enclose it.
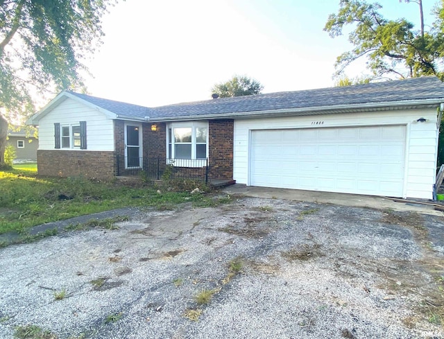
<instances>
[{"instance_id":1,"label":"small tan neighboring house partly hidden behind the left tree","mask_svg":"<svg viewBox=\"0 0 444 339\"><path fill-rule=\"evenodd\" d=\"M14 162L37 162L39 140L25 130L8 130L8 145L15 148Z\"/></svg>"}]
</instances>

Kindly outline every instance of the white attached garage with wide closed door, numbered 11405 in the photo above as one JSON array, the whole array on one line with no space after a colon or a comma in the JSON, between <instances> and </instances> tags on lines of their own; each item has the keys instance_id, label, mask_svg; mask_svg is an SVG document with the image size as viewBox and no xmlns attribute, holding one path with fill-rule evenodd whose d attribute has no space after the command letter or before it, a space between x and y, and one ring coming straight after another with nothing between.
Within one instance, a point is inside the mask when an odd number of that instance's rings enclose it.
<instances>
[{"instance_id":1,"label":"white attached garage with wide closed door, numbered 11405","mask_svg":"<svg viewBox=\"0 0 444 339\"><path fill-rule=\"evenodd\" d=\"M289 112L234 120L233 178L248 186L432 199L436 107Z\"/></svg>"}]
</instances>

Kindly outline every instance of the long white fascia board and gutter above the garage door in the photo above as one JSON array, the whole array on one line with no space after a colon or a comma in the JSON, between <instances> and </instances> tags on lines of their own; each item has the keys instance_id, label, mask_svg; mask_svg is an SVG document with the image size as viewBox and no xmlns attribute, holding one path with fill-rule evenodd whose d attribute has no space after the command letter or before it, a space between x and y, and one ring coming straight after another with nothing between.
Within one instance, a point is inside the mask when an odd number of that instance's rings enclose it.
<instances>
[{"instance_id":1,"label":"long white fascia board and gutter above the garage door","mask_svg":"<svg viewBox=\"0 0 444 339\"><path fill-rule=\"evenodd\" d=\"M318 107L301 107L301 108L284 108L280 110L263 110L250 112L231 112L221 114L202 114L194 116L173 116L160 117L158 119L151 118L150 121L189 121L189 120L203 120L203 119L250 119L259 117L277 117L277 116L306 116L318 114L334 114L334 113L356 113L356 112L370 112L375 110L403 110L413 109L418 107L434 108L439 107L443 103L443 99L425 99L418 101L389 101L382 103L361 103L352 105L333 105L333 106L318 106Z\"/></svg>"}]
</instances>

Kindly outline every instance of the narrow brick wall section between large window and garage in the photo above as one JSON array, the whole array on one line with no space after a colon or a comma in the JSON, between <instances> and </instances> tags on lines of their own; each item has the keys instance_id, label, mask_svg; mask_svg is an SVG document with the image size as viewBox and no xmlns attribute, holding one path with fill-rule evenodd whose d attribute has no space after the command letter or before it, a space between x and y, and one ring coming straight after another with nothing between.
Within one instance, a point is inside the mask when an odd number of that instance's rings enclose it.
<instances>
[{"instance_id":1,"label":"narrow brick wall section between large window and garage","mask_svg":"<svg viewBox=\"0 0 444 339\"><path fill-rule=\"evenodd\" d=\"M232 119L210 120L208 123L210 177L213 179L233 177L233 134Z\"/></svg>"}]
</instances>

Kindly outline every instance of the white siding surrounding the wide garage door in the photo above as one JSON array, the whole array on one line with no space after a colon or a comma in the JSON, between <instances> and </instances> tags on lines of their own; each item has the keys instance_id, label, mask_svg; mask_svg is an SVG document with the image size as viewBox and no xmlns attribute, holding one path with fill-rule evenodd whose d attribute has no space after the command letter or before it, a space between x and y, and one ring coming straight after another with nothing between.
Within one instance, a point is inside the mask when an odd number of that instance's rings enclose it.
<instances>
[{"instance_id":1,"label":"white siding surrounding the wide garage door","mask_svg":"<svg viewBox=\"0 0 444 339\"><path fill-rule=\"evenodd\" d=\"M421 117L427 121L416 122ZM234 121L234 180L240 184L250 184L250 131L252 130L405 125L407 136L403 197L431 199L438 142L436 119L436 109L237 119Z\"/></svg>"}]
</instances>

